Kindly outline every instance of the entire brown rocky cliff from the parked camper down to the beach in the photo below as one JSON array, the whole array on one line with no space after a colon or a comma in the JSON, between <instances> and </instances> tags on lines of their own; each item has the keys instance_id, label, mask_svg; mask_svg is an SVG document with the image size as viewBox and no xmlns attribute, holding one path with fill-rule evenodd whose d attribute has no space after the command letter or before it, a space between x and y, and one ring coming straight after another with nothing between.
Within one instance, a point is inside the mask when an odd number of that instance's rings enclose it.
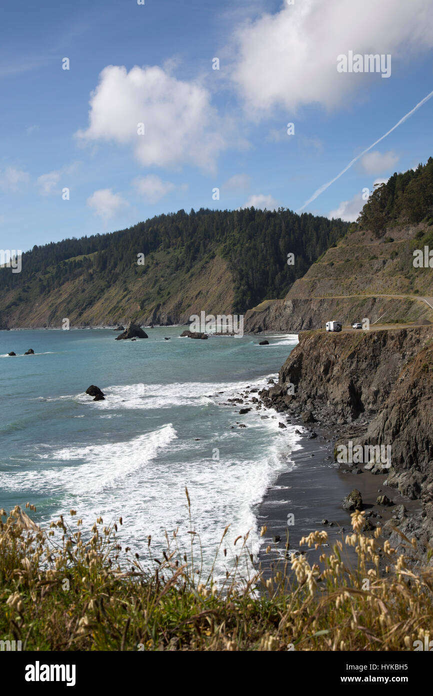
<instances>
[{"instance_id":1,"label":"entire brown rocky cliff from the parked camper down to the beach","mask_svg":"<svg viewBox=\"0 0 433 696\"><path fill-rule=\"evenodd\" d=\"M334 432L338 427L336 444L351 439L353 445L391 445L387 483L402 496L420 499L423 504L419 519L409 520L399 513L392 525L398 524L410 537L415 534L427 547L433 538L430 327L301 333L299 344L279 372L279 389L268 398L278 410L318 420ZM373 473L379 470L372 469Z\"/></svg>"}]
</instances>

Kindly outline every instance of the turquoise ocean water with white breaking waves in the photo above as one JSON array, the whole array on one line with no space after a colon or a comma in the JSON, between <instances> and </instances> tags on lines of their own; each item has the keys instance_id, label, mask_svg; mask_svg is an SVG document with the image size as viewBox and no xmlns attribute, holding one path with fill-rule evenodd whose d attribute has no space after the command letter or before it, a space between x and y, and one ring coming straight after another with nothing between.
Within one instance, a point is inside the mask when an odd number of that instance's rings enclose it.
<instances>
[{"instance_id":1,"label":"turquoise ocean water with white breaking waves","mask_svg":"<svg viewBox=\"0 0 433 696\"><path fill-rule=\"evenodd\" d=\"M276 377L297 336L202 341L179 338L183 328L133 342L108 329L0 331L0 507L28 501L44 523L74 508L83 530L122 516L122 542L142 554L152 535L155 555L165 531L190 543L188 487L205 568L227 524L227 544L250 531L258 553L255 506L300 444L273 411L240 416L227 399ZM85 394L90 384L105 401Z\"/></svg>"}]
</instances>

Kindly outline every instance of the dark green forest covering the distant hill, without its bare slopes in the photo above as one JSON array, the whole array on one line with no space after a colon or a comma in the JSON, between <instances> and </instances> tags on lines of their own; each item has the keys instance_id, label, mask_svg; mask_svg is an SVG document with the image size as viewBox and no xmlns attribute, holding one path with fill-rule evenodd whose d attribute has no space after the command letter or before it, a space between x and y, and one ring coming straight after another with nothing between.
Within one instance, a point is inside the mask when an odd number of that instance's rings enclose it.
<instances>
[{"instance_id":1,"label":"dark green forest covering the distant hill, without its bare slopes","mask_svg":"<svg viewBox=\"0 0 433 696\"><path fill-rule=\"evenodd\" d=\"M341 220L297 215L283 208L275 212L254 207L234 211L202 208L189 214L179 210L127 230L34 246L22 255L21 273L0 269L0 291L4 297L13 291L18 294L26 286L29 294L19 301L34 305L54 291L57 298L66 283L79 283L79 294L85 298L71 292L66 307L71 313L81 312L85 302L97 303L107 288L120 281L133 287L142 279L143 292L134 296L134 309L152 310L172 294L174 276L181 288L191 271L195 276L206 273L206 265L218 257L231 274L231 309L245 312L263 299L284 296L296 278L347 229L348 223ZM145 265L138 265L139 253L145 255ZM287 264L288 253L295 254L293 266ZM158 262L161 267L156 278ZM149 273L153 273L150 287ZM112 298L109 301L106 317L115 305ZM6 311L6 302L0 301L0 310Z\"/></svg>"}]
</instances>

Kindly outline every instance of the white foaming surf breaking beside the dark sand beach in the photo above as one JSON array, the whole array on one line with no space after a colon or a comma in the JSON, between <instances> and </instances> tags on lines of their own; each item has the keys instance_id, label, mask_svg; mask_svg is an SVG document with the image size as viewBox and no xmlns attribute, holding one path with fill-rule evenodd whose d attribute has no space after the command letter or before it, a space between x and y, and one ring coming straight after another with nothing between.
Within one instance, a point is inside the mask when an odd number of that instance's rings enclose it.
<instances>
[{"instance_id":1,"label":"white foaming surf breaking beside the dark sand beach","mask_svg":"<svg viewBox=\"0 0 433 696\"><path fill-rule=\"evenodd\" d=\"M275 379L277 374L272 377ZM238 397L247 387L263 387L269 378L270 375L263 375L232 383L101 385L106 395L104 401L92 402L82 393L59 398L86 404L86 408L97 409L101 418L110 418L121 416L123 409L152 411L190 404L218 407L227 404L228 398ZM56 399L49 397L49 400ZM234 421L240 420L235 417L238 404L222 408L233 414ZM193 528L200 534L206 567L211 564L224 526L231 524L225 539L227 559L222 558L216 566L217 576L222 576L231 552L238 551L240 542L236 549L233 546L238 535L250 530L248 546L252 553L259 552L256 505L263 500L278 473L295 466L291 453L300 447L293 426L288 425L284 431L279 429L279 414L267 411L266 415L271 417L263 420L261 415L263 411L253 409L241 419L247 430L224 426L214 434L197 435L199 441L179 438L173 425L167 423L127 441L115 441L113 436L111 442L104 439L96 444L65 443L59 447L40 443L33 449L33 463L27 470L19 466L14 473L3 473L3 489L20 493L34 491L56 500L58 514L74 507L87 528L99 514L104 517L104 523L122 515L122 541L143 553L147 535L152 535L156 544L154 553L158 553L164 530L172 532L179 527L179 543L190 544L191 537L186 533L189 529L187 486ZM244 438L252 437L254 445L244 453L240 443L247 443ZM213 448L219 449L217 461L212 457Z\"/></svg>"}]
</instances>

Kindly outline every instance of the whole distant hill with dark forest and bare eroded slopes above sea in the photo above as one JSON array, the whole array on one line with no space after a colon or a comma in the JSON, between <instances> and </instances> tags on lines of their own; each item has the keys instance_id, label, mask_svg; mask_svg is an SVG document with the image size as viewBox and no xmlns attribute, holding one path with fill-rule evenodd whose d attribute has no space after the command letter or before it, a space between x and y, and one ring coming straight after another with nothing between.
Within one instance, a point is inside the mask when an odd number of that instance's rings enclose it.
<instances>
[{"instance_id":1,"label":"whole distant hill with dark forest and bare eroded slopes above sea","mask_svg":"<svg viewBox=\"0 0 433 696\"><path fill-rule=\"evenodd\" d=\"M283 297L347 230L339 219L281 208L179 210L127 230L34 246L20 273L0 269L0 325L60 326L64 317L72 326L170 324L199 310L245 313Z\"/></svg>"}]
</instances>

